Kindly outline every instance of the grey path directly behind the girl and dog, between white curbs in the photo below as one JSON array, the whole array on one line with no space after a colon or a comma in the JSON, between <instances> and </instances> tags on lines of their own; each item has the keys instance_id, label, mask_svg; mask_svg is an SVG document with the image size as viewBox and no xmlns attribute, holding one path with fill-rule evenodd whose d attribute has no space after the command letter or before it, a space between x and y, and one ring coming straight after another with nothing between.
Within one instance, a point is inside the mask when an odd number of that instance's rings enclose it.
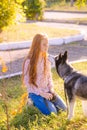
<instances>
[{"instance_id":1,"label":"grey path directly behind the girl and dog, between white curbs","mask_svg":"<svg viewBox=\"0 0 87 130\"><path fill-rule=\"evenodd\" d=\"M12 74L22 71L22 63L24 57L27 55L29 49L12 50L12 51L0 51L0 56L6 62L9 71L5 74L1 73L0 76ZM87 59L87 41L80 41L77 43L60 45L60 46L50 46L49 54L57 55L60 52L63 53L65 50L68 51L68 60L83 60Z\"/></svg>"}]
</instances>

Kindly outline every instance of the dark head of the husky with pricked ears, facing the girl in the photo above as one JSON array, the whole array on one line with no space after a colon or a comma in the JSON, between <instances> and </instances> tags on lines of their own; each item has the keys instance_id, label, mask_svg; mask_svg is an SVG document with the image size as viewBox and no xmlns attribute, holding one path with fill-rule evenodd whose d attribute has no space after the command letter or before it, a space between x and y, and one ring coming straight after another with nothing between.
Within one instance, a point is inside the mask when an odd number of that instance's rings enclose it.
<instances>
[{"instance_id":1,"label":"dark head of the husky with pricked ears, facing the girl","mask_svg":"<svg viewBox=\"0 0 87 130\"><path fill-rule=\"evenodd\" d=\"M61 78L71 71L71 67L67 62L67 51L65 51L63 55L60 53L55 56L55 66L57 73Z\"/></svg>"}]
</instances>

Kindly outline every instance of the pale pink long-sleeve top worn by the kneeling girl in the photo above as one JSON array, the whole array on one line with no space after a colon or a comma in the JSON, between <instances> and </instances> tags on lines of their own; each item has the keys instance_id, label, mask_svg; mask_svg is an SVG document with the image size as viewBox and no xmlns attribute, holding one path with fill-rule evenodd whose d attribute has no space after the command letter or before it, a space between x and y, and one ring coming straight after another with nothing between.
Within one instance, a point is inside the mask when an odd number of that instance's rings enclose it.
<instances>
[{"instance_id":1,"label":"pale pink long-sleeve top worn by the kneeling girl","mask_svg":"<svg viewBox=\"0 0 87 130\"><path fill-rule=\"evenodd\" d=\"M30 59L27 59L24 64L24 83L27 87L28 93L35 93L40 95L41 92L50 92L53 88L52 74L51 74L51 63L47 59L46 60L46 75L44 75L44 58L39 58L37 63L37 78L36 87L33 84L29 83L29 73L28 66L30 65Z\"/></svg>"}]
</instances>

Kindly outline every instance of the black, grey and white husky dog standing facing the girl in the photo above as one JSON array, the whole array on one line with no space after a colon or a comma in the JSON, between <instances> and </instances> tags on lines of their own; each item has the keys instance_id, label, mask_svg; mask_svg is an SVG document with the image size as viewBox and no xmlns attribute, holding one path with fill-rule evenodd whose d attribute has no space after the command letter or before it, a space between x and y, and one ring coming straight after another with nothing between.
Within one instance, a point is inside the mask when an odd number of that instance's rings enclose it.
<instances>
[{"instance_id":1,"label":"black, grey and white husky dog standing facing the girl","mask_svg":"<svg viewBox=\"0 0 87 130\"><path fill-rule=\"evenodd\" d=\"M55 65L58 75L64 80L65 97L69 102L70 120L74 115L76 97L87 100L87 76L77 72L67 61L67 51L55 56ZM68 107L68 106L67 106Z\"/></svg>"}]
</instances>

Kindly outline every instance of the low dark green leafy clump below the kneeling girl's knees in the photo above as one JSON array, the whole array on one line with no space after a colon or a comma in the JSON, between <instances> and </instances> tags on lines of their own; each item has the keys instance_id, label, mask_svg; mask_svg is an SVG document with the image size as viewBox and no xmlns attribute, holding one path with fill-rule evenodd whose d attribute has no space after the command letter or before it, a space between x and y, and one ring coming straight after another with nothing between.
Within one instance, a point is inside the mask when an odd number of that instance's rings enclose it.
<instances>
[{"instance_id":1,"label":"low dark green leafy clump below the kneeling girl's knees","mask_svg":"<svg viewBox=\"0 0 87 130\"><path fill-rule=\"evenodd\" d=\"M42 117L43 117L42 114L34 106L31 107L25 106L22 113L17 114L13 118L11 126L14 126L15 128L18 129L20 129L20 126L22 126L26 130L31 130L34 125L35 126L38 125L38 122L39 124L41 123L40 119ZM36 118L39 119L36 120Z\"/></svg>"}]
</instances>

